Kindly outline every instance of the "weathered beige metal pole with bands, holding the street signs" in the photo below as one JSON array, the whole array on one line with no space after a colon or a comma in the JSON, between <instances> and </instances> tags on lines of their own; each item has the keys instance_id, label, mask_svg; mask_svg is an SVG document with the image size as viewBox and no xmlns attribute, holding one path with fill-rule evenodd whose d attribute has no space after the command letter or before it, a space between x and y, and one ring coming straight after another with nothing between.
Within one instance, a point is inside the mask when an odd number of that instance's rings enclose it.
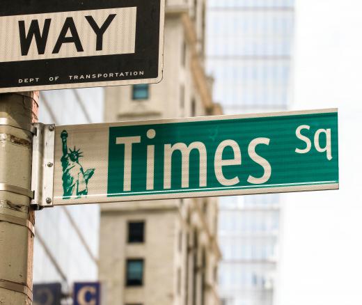
<instances>
[{"instance_id":1,"label":"weathered beige metal pole with bands, holding the street signs","mask_svg":"<svg viewBox=\"0 0 362 305\"><path fill-rule=\"evenodd\" d=\"M32 303L33 127L38 92L0 94L0 304Z\"/></svg>"}]
</instances>

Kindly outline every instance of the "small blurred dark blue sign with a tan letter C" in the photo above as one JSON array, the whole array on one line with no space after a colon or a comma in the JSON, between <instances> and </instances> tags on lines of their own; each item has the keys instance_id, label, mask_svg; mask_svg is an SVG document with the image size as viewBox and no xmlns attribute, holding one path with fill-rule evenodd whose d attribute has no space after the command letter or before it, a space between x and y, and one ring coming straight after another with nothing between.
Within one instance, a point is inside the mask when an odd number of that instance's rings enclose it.
<instances>
[{"instance_id":1,"label":"small blurred dark blue sign with a tan letter C","mask_svg":"<svg viewBox=\"0 0 362 305\"><path fill-rule=\"evenodd\" d=\"M100 305L100 283L74 283L73 305Z\"/></svg>"}]
</instances>

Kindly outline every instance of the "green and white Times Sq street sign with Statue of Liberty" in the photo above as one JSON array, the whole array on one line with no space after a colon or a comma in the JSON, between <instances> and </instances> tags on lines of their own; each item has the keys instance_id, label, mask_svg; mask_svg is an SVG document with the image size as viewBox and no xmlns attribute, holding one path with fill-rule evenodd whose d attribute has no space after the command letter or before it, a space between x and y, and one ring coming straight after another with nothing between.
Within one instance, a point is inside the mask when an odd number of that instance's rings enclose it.
<instances>
[{"instance_id":1,"label":"green and white Times Sq street sign with Statue of Liberty","mask_svg":"<svg viewBox=\"0 0 362 305\"><path fill-rule=\"evenodd\" d=\"M45 206L338 189L337 109L59 126L54 136Z\"/></svg>"}]
</instances>

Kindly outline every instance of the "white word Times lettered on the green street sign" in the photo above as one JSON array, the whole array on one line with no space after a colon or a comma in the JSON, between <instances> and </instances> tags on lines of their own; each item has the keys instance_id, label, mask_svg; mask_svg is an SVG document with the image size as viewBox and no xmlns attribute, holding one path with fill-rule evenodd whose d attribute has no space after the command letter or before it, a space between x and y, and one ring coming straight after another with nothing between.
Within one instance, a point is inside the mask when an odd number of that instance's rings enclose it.
<instances>
[{"instance_id":1,"label":"white word Times lettered on the green street sign","mask_svg":"<svg viewBox=\"0 0 362 305\"><path fill-rule=\"evenodd\" d=\"M145 189L147 191L152 191L155 189L155 177L157 177L157 182L159 178L162 178L162 170L157 170L158 166L162 166L163 163L163 188L172 189L178 187L173 185L173 170L181 169L181 188L187 189L190 187L190 167L193 169L198 169L198 187L207 187L207 148L205 144L201 141L195 141L187 145L186 143L175 143L175 144L164 144L160 146L159 140L156 138L156 130L148 129L145 133L145 137L141 136L120 136L116 137L116 144L124 146L124 157L123 157L123 191L132 190L132 150L145 149L146 162L145 162ZM141 143L141 139L146 141L141 146L136 146L134 144ZM268 138L256 138L249 143L248 154L251 160L256 164L262 166L264 173L259 175L260 177L254 177L249 175L247 182L253 185L261 185L269 180L272 175L272 166L269 164L267 159L261 157L256 153L257 146L266 145L269 146L270 139ZM158 145L157 145L158 143ZM233 155L226 159L225 151L227 148L230 148L229 152L232 151ZM159 157L157 153L161 153L160 149L163 151L163 160L159 162ZM324 150L324 148L320 148ZM193 154L194 153L196 154ZM193 155L193 161L191 162L191 155ZM198 162L196 159L198 158ZM178 161L180 160L180 162ZM176 164L175 164L176 162ZM139 163L138 163L139 164ZM210 164L211 165L211 164ZM214 153L214 174L217 181L225 186L232 187L239 184L239 173L242 172L242 152L240 150L239 144L237 141L228 139L219 143ZM156 167L157 166L157 167ZM238 168L233 170L233 175L230 177L230 173L224 174L223 171L226 170L227 166L238 166ZM135 170L135 169L134 169ZM140 169L137 169L139 171ZM194 183L194 182L192 182ZM159 187L159 185L157 186Z\"/></svg>"}]
</instances>

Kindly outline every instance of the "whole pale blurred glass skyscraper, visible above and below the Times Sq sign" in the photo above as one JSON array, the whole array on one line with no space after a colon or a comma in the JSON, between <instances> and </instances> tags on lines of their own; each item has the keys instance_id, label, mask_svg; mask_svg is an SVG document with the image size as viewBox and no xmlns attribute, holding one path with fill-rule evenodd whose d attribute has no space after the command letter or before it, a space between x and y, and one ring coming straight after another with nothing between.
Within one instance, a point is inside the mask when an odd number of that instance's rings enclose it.
<instances>
[{"instance_id":1,"label":"whole pale blurred glass skyscraper, visible above and below the Times Sq sign","mask_svg":"<svg viewBox=\"0 0 362 305\"><path fill-rule=\"evenodd\" d=\"M208 1L207 70L226 114L288 109L293 34L294 0ZM221 198L223 305L274 304L281 198Z\"/></svg>"}]
</instances>

